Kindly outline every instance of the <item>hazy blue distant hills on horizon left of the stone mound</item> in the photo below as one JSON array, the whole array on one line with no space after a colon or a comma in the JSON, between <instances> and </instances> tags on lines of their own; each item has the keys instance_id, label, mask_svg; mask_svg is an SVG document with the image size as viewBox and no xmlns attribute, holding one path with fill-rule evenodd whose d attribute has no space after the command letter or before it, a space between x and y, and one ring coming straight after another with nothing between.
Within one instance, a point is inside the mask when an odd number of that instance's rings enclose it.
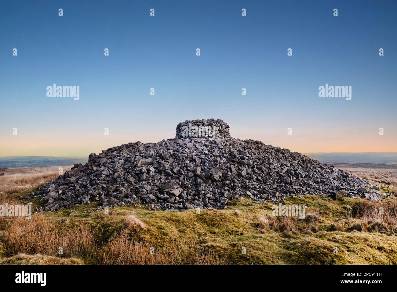
<instances>
[{"instance_id":1,"label":"hazy blue distant hills on horizon left of the stone mound","mask_svg":"<svg viewBox=\"0 0 397 292\"><path fill-rule=\"evenodd\" d=\"M9 156L0 157L0 167L44 167L73 165L86 163L87 158L82 157L51 157L51 156Z\"/></svg>"}]
</instances>

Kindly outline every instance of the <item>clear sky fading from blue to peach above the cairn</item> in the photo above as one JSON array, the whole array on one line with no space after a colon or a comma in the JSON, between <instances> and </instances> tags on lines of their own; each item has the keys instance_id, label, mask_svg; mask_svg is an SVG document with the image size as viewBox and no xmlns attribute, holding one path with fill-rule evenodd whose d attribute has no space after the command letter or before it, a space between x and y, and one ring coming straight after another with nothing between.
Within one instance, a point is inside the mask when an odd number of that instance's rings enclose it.
<instances>
[{"instance_id":1,"label":"clear sky fading from blue to peach above the cairn","mask_svg":"<svg viewBox=\"0 0 397 292\"><path fill-rule=\"evenodd\" d=\"M199 118L291 151L397 152L396 29L396 1L3 2L0 157L87 156Z\"/></svg>"}]
</instances>

